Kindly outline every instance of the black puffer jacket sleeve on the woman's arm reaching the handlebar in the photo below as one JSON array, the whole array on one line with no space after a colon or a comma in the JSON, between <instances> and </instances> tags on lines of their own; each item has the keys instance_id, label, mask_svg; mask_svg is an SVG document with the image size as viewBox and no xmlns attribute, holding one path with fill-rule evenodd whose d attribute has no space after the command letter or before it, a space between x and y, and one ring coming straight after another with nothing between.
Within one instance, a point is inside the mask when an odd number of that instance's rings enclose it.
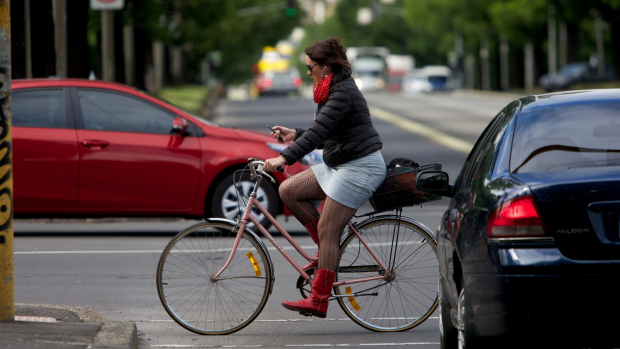
<instances>
[{"instance_id":1,"label":"black puffer jacket sleeve on the woman's arm reaching the handlebar","mask_svg":"<svg viewBox=\"0 0 620 349\"><path fill-rule=\"evenodd\" d=\"M280 155L286 159L287 164L294 164L314 149L321 147L350 111L351 96L346 90L336 89L329 94L310 128L301 134L296 132L298 138L282 150Z\"/></svg>"}]
</instances>

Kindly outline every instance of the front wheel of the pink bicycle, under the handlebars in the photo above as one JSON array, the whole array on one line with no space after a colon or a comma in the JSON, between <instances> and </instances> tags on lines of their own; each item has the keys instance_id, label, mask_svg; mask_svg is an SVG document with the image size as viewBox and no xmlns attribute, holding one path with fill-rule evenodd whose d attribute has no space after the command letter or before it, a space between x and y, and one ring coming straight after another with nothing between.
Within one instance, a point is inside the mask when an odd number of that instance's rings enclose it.
<instances>
[{"instance_id":1,"label":"front wheel of the pink bicycle, under the handlebars","mask_svg":"<svg viewBox=\"0 0 620 349\"><path fill-rule=\"evenodd\" d=\"M230 334L252 322L267 302L271 265L262 244L243 232L217 280L236 232L227 223L199 223L177 234L157 266L157 293L179 325L199 334Z\"/></svg>"}]
</instances>

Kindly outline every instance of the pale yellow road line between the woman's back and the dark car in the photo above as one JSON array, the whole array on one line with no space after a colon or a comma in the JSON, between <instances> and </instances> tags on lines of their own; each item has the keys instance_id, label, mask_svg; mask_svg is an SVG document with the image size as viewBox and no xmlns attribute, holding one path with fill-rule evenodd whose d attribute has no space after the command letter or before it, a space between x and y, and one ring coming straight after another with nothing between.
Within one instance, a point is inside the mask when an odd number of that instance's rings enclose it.
<instances>
[{"instance_id":1,"label":"pale yellow road line between the woman's back and the dark car","mask_svg":"<svg viewBox=\"0 0 620 349\"><path fill-rule=\"evenodd\" d=\"M387 110L383 110L383 109L379 109L376 107L370 107L368 108L370 110L370 115L372 115L373 117L376 117L378 119L381 119L385 122L389 122L393 125L396 125L400 128L402 128L405 131L409 131L411 133L415 133L418 134L420 136L424 136L428 139L430 139L431 141L437 143L437 144L441 144L447 148L450 148L452 150L456 150L458 152L464 153L464 154L469 154L469 152L471 151L471 149L474 147L473 144L464 141L462 139L450 136L446 133L443 133L439 130L436 130L432 127L428 127L426 125L423 125L419 122L415 122L413 120L409 120L405 117L402 117L400 115L394 114L392 112L389 112Z\"/></svg>"}]
</instances>

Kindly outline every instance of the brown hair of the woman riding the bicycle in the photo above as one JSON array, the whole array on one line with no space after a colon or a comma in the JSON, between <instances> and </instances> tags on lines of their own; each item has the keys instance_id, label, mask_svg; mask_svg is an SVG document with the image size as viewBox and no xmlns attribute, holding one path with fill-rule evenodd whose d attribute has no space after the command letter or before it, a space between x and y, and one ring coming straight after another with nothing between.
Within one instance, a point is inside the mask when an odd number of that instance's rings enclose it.
<instances>
[{"instance_id":1,"label":"brown hair of the woman riding the bicycle","mask_svg":"<svg viewBox=\"0 0 620 349\"><path fill-rule=\"evenodd\" d=\"M332 68L334 83L336 84L342 80L345 74L351 73L351 64L347 60L347 50L337 37L315 42L306 48L305 52L311 60Z\"/></svg>"}]
</instances>

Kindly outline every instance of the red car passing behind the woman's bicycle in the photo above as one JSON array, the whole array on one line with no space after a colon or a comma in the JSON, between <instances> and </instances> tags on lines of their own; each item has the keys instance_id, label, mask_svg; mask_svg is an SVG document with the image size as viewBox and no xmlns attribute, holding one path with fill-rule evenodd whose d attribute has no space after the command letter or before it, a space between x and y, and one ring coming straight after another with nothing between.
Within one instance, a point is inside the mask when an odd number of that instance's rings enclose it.
<instances>
[{"instance_id":1,"label":"red car passing behind the woman's bicycle","mask_svg":"<svg viewBox=\"0 0 620 349\"><path fill-rule=\"evenodd\" d=\"M121 84L14 80L12 90L16 217L234 219L234 172L281 148L266 134L211 124ZM288 174L322 160L311 155ZM245 176L243 194L252 186ZM263 181L258 199L274 216L290 215L277 185Z\"/></svg>"}]
</instances>

